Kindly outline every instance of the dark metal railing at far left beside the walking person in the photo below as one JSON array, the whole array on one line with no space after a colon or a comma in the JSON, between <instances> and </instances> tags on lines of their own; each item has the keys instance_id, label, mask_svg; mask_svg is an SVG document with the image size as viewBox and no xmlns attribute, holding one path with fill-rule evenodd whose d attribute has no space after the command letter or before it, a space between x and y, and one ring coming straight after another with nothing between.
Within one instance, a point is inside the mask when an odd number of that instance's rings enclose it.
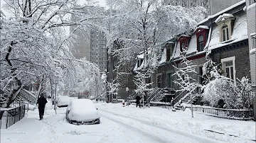
<instances>
[{"instance_id":1,"label":"dark metal railing at far left beside the walking person","mask_svg":"<svg viewBox=\"0 0 256 143\"><path fill-rule=\"evenodd\" d=\"M14 108L0 108L0 128L6 129L21 120L25 115L26 105L19 105Z\"/></svg>"}]
</instances>

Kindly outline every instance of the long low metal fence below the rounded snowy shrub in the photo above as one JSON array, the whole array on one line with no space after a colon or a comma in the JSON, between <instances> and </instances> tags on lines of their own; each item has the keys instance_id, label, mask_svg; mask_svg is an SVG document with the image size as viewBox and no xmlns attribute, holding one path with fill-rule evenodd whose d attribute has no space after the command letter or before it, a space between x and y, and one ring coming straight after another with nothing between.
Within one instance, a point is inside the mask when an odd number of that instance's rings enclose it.
<instances>
[{"instance_id":1,"label":"long low metal fence below the rounded snowy shrub","mask_svg":"<svg viewBox=\"0 0 256 143\"><path fill-rule=\"evenodd\" d=\"M191 108L191 107L186 107ZM194 111L203 112L205 115L215 116L218 118L228 118L233 120L252 120L253 110L245 109L223 109L223 108L211 108L193 106Z\"/></svg>"}]
</instances>

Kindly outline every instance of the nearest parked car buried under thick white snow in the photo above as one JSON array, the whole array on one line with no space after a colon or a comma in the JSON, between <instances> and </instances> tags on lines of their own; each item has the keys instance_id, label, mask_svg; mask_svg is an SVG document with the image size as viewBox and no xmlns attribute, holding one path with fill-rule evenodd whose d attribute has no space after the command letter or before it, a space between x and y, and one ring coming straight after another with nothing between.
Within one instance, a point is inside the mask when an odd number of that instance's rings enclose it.
<instances>
[{"instance_id":1,"label":"nearest parked car buried under thick white snow","mask_svg":"<svg viewBox=\"0 0 256 143\"><path fill-rule=\"evenodd\" d=\"M71 124L100 124L100 115L90 99L75 99L66 110L66 119Z\"/></svg>"}]
</instances>

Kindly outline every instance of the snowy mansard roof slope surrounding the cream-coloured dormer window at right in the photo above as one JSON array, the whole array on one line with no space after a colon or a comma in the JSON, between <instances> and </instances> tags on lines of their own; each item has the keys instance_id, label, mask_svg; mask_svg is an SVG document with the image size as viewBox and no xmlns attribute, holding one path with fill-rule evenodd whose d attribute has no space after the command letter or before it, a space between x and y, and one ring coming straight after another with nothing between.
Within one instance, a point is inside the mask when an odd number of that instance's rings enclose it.
<instances>
[{"instance_id":1,"label":"snowy mansard roof slope surrounding the cream-coloured dormer window at right","mask_svg":"<svg viewBox=\"0 0 256 143\"><path fill-rule=\"evenodd\" d=\"M247 17L246 15L236 18L235 25L233 28L233 34L231 35L230 40L220 42L220 34L218 26L213 28L213 33L211 33L209 50L213 50L218 47L223 47L225 45L230 45L234 42L239 42L248 38L247 36Z\"/></svg>"}]
</instances>

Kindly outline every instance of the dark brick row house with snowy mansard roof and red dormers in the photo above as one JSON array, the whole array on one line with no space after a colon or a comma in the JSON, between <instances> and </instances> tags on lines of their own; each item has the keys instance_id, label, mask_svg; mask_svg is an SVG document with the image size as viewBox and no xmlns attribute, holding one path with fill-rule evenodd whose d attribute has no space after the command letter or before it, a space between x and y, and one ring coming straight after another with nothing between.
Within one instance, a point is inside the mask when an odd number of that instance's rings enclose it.
<instances>
[{"instance_id":1,"label":"dark brick row house with snowy mansard roof and red dormers","mask_svg":"<svg viewBox=\"0 0 256 143\"><path fill-rule=\"evenodd\" d=\"M203 64L206 63L206 55L209 51L210 59L221 64L223 76L233 80L242 79L243 76L251 79L245 6L245 1L240 1L213 16L208 16L198 23L191 33L177 33L178 36L159 47L162 55L158 69L151 74L149 80L153 82L152 88L179 89L174 84L177 77L173 74L176 71L174 67L182 66L180 51L183 47L188 49L187 59L196 65L197 74L191 76L198 84L204 81ZM137 63L143 62L142 59L138 58ZM196 92L200 91L197 89ZM173 98L179 95L180 93L177 92Z\"/></svg>"}]
</instances>

